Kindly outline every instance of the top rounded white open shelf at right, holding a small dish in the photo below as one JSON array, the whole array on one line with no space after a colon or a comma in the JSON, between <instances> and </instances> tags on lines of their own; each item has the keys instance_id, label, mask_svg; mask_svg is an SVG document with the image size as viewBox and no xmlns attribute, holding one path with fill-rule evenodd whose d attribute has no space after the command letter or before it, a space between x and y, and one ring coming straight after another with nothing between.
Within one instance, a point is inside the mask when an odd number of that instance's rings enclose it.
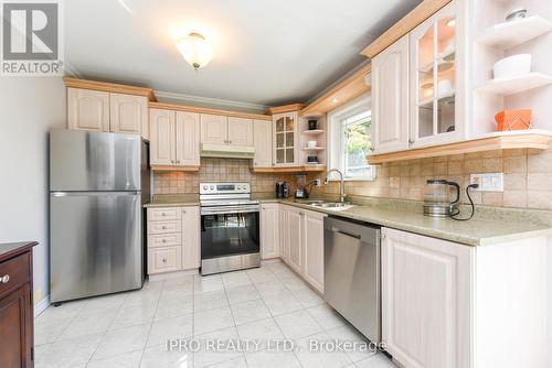
<instances>
[{"instance_id":1,"label":"top rounded white open shelf at right, holding a small dish","mask_svg":"<svg viewBox=\"0 0 552 368\"><path fill-rule=\"evenodd\" d=\"M540 15L532 15L496 24L487 29L481 36L477 39L477 42L508 50L550 31L552 31L551 21Z\"/></svg>"}]
</instances>

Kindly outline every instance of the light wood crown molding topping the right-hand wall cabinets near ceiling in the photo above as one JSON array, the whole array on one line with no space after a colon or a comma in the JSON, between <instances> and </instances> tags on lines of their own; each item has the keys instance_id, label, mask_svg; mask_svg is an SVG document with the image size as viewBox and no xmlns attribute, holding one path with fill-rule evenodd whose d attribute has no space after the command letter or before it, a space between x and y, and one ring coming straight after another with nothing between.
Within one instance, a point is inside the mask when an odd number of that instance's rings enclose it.
<instances>
[{"instance_id":1,"label":"light wood crown molding topping the right-hand wall cabinets near ceiling","mask_svg":"<svg viewBox=\"0 0 552 368\"><path fill-rule=\"evenodd\" d=\"M424 0L420 6L403 17L403 19L386 30L381 36L375 39L368 47L362 50L361 55L373 58L450 1L452 0Z\"/></svg>"}]
</instances>

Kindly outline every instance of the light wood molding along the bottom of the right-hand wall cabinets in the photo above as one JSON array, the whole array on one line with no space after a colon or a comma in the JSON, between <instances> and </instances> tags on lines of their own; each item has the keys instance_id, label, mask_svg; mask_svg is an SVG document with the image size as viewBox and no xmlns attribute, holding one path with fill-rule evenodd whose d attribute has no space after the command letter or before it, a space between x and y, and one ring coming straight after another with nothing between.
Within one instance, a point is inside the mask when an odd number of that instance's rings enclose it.
<instances>
[{"instance_id":1,"label":"light wood molding along the bottom of the right-hand wall cabinets","mask_svg":"<svg viewBox=\"0 0 552 368\"><path fill-rule=\"evenodd\" d=\"M384 162L415 160L443 156L449 154L463 154L473 152L511 150L511 149L535 149L545 150L552 141L552 132L538 129L492 132L480 138L467 141L433 145L414 150L393 153L374 154L369 156L371 164Z\"/></svg>"}]
</instances>

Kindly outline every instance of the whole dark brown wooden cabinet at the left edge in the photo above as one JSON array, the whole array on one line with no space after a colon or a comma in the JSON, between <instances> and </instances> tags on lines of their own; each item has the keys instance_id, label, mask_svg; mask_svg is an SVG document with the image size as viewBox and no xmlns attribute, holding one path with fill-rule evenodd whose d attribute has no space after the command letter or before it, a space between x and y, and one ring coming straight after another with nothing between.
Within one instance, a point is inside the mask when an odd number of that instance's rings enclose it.
<instances>
[{"instance_id":1,"label":"whole dark brown wooden cabinet at the left edge","mask_svg":"<svg viewBox=\"0 0 552 368\"><path fill-rule=\"evenodd\" d=\"M32 247L0 245L0 367L34 365Z\"/></svg>"}]
</instances>

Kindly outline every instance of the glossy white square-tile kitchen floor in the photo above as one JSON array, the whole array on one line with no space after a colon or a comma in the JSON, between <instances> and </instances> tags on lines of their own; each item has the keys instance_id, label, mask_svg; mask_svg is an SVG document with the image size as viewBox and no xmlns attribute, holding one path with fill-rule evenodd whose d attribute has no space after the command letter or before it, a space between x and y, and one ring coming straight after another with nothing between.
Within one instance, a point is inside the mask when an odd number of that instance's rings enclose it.
<instances>
[{"instance_id":1,"label":"glossy white square-tile kitchen floor","mask_svg":"<svg viewBox=\"0 0 552 368\"><path fill-rule=\"evenodd\" d=\"M167 349L167 339L202 342ZM254 340L213 351L209 339ZM276 342L294 342L276 351ZM284 263L222 275L147 282L139 291L47 307L35 321L36 368L395 367L369 351L309 351L309 342L363 342ZM191 351L193 350L193 351Z\"/></svg>"}]
</instances>

